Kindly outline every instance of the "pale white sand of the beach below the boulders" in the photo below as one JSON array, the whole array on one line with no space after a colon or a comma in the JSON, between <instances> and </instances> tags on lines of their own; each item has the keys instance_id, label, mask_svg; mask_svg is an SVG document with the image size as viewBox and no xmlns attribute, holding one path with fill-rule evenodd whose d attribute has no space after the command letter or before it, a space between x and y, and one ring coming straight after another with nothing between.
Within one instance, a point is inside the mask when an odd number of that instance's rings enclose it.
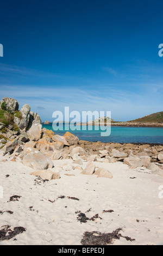
<instances>
[{"instance_id":1,"label":"pale white sand of the beach below the boulders","mask_svg":"<svg viewBox=\"0 0 163 256\"><path fill-rule=\"evenodd\" d=\"M53 162L56 167L73 161ZM26 232L15 237L16 240L3 241L1 245L81 245L85 231L111 233L117 228L123 229L123 236L135 241L121 237L114 245L162 244L163 199L159 198L159 186L163 185L163 177L146 173L146 168L129 169L121 162L94 163L96 167L108 169L113 178L83 175L75 169L60 172L61 179L38 184L37 178L30 175L33 169L20 162L0 162L0 186L4 189L0 211L14 212L12 215L4 212L0 226L26 228ZM82 167L85 165L86 162ZM130 179L134 177L136 179ZM8 202L14 195L21 198ZM65 198L58 198L60 196ZM104 210L114 212L103 213ZM89 218L98 214L102 220L80 223L77 211Z\"/></svg>"}]
</instances>

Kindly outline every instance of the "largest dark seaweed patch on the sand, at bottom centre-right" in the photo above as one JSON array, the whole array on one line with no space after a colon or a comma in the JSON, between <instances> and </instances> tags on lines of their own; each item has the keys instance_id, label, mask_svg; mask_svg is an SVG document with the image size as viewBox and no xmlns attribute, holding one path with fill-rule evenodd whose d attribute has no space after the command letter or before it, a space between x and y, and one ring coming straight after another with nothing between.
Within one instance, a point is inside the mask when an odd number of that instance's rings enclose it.
<instances>
[{"instance_id":1,"label":"largest dark seaweed patch on the sand, at bottom centre-right","mask_svg":"<svg viewBox=\"0 0 163 256\"><path fill-rule=\"evenodd\" d=\"M85 232L83 239L81 240L82 245L111 245L114 240L120 240L121 237L125 238L127 241L135 241L128 236L122 236L120 234L122 228L118 228L112 233L101 233L97 231Z\"/></svg>"}]
</instances>

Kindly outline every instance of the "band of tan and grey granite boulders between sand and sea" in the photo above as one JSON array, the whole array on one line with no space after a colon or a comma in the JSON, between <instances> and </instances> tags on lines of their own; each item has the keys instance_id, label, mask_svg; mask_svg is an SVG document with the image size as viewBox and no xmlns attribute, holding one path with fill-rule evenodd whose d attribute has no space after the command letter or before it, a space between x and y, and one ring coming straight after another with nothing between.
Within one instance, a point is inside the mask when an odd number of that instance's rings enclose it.
<instances>
[{"instance_id":1,"label":"band of tan and grey granite boulders between sand and sea","mask_svg":"<svg viewBox=\"0 0 163 256\"><path fill-rule=\"evenodd\" d=\"M16 100L3 98L0 105L2 102L5 102L6 109L18 111ZM24 105L20 113L21 118L14 115L14 123L18 127L16 131L13 124L0 126L0 153L6 160L20 161L35 170L52 168L52 161L61 159L71 159L80 166L83 161L121 161L130 168L145 167L163 176L163 145L79 141L70 132L59 136L46 128L42 129L39 115L31 112L29 105Z\"/></svg>"}]
</instances>

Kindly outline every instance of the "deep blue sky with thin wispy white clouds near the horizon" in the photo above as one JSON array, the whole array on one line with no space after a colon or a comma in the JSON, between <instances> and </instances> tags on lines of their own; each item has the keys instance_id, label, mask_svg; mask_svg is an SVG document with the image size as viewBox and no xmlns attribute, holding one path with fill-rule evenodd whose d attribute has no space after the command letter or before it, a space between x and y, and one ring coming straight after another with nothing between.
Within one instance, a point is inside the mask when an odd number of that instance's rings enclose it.
<instances>
[{"instance_id":1,"label":"deep blue sky with thin wispy white clouds near the horizon","mask_svg":"<svg viewBox=\"0 0 163 256\"><path fill-rule=\"evenodd\" d=\"M0 1L0 96L54 111L163 111L163 2Z\"/></svg>"}]
</instances>

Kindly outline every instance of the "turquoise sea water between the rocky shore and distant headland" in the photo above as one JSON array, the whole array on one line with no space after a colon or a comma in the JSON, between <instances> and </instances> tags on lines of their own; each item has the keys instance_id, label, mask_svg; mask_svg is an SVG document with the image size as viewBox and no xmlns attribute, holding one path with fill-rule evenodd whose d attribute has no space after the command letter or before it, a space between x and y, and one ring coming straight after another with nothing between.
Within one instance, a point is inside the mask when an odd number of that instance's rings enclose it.
<instances>
[{"instance_id":1,"label":"turquoise sea water between the rocky shore and distant headland","mask_svg":"<svg viewBox=\"0 0 163 256\"><path fill-rule=\"evenodd\" d=\"M60 125L59 125L60 126ZM53 130L52 124L43 125L48 130ZM60 127L61 129L61 127ZM114 142L114 143L154 143L163 144L163 128L162 127L117 127L111 126L110 136L101 136L101 130L96 131L93 127L89 131L89 126L82 130L82 126L78 126L78 130L72 131L71 126L65 124L62 130L54 131L55 134L64 135L66 131L70 131L80 140L90 142Z\"/></svg>"}]
</instances>

